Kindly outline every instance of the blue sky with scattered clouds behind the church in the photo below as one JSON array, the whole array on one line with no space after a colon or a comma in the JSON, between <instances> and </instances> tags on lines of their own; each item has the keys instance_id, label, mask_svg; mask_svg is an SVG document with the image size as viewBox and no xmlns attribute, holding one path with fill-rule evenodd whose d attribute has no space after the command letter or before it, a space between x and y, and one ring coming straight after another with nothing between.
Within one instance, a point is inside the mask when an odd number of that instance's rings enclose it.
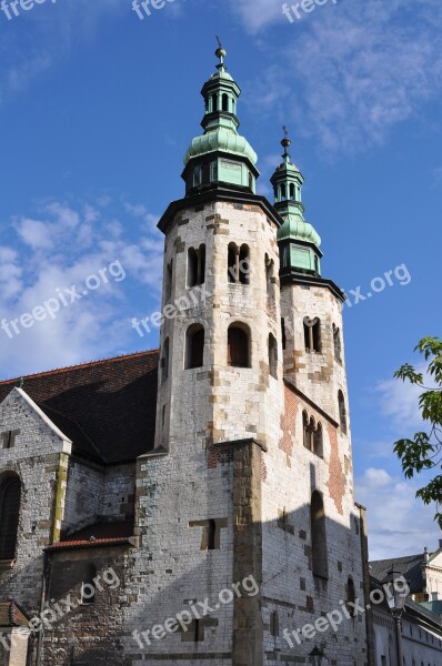
<instances>
[{"instance_id":1,"label":"blue sky with scattered clouds behind the church","mask_svg":"<svg viewBox=\"0 0 442 666\"><path fill-rule=\"evenodd\" d=\"M271 198L285 123L324 275L365 295L393 271L391 285L345 306L356 498L372 557L432 549L432 508L391 453L420 426L415 393L392 374L441 326L442 4L330 0L293 23L281 4L175 0L142 21L131 0L0 13L1 317L104 268L117 276L54 320L0 331L1 376L157 346L157 332L140 339L130 321L159 304L155 223L183 194L219 34L259 191Z\"/></svg>"}]
</instances>

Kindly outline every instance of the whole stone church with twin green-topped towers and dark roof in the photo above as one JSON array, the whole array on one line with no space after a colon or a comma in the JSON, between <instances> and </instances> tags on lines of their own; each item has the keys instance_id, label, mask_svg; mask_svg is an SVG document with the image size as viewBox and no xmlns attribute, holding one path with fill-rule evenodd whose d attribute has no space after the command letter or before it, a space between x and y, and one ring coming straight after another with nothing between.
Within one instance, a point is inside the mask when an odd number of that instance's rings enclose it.
<instances>
[{"instance_id":1,"label":"whole stone church with twin green-topped towers and dark roof","mask_svg":"<svg viewBox=\"0 0 442 666\"><path fill-rule=\"evenodd\" d=\"M372 663L345 296L287 132L257 194L217 58L159 222L160 349L0 382L1 666Z\"/></svg>"}]
</instances>

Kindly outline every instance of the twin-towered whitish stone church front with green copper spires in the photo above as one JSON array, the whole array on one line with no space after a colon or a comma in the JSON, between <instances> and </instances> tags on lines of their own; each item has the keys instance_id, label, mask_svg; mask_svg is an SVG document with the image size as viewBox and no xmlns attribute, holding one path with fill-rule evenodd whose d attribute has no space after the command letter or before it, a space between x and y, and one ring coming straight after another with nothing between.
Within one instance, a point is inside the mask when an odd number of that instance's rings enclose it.
<instances>
[{"instance_id":1,"label":"twin-towered whitish stone church front with green copper spires","mask_svg":"<svg viewBox=\"0 0 442 666\"><path fill-rule=\"evenodd\" d=\"M343 294L321 276L287 135L274 205L255 193L240 88L221 46L215 54L185 195L159 222L155 446L138 458L130 571L141 602L127 612L127 652L140 664L277 666L305 663L317 645L329 666L364 666L362 619L302 634L362 586ZM203 599L210 612L197 616ZM163 625L183 608L185 626ZM141 639L145 618L159 640Z\"/></svg>"}]
</instances>

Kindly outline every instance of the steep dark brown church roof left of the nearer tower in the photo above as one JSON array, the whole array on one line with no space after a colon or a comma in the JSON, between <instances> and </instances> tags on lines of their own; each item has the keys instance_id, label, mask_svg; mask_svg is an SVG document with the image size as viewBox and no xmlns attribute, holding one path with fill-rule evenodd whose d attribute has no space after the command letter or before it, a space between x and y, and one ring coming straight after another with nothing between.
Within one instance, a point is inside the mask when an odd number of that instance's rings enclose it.
<instances>
[{"instance_id":1,"label":"steep dark brown church roof left of the nearer tower","mask_svg":"<svg viewBox=\"0 0 442 666\"><path fill-rule=\"evenodd\" d=\"M151 350L23 377L23 391L73 442L108 464L153 448L159 351ZM0 382L0 403L19 384Z\"/></svg>"}]
</instances>

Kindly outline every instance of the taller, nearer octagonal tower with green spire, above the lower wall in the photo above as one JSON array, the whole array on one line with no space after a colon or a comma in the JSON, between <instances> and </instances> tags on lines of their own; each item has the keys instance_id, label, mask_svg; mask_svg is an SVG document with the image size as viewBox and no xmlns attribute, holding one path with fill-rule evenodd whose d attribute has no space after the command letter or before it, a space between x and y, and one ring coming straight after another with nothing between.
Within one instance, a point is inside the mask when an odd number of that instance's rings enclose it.
<instances>
[{"instance_id":1,"label":"taller, nearer octagonal tower with green spire, above the lower wall","mask_svg":"<svg viewBox=\"0 0 442 666\"><path fill-rule=\"evenodd\" d=\"M280 219L255 194L257 154L238 133L240 89L217 51L204 83L203 134L184 158L184 199L165 235L157 446L195 451L279 438L282 344ZM168 316L168 312L171 313Z\"/></svg>"}]
</instances>

